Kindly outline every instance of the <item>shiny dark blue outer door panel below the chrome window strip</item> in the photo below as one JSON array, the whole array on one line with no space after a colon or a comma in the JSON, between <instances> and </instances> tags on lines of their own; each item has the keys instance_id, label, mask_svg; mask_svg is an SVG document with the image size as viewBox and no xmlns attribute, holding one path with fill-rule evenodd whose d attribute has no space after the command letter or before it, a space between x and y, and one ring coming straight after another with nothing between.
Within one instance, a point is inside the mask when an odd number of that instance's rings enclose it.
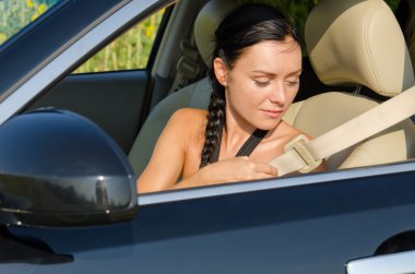
<instances>
[{"instance_id":1,"label":"shiny dark blue outer door panel below the chrome window strip","mask_svg":"<svg viewBox=\"0 0 415 274\"><path fill-rule=\"evenodd\" d=\"M146 205L133 222L108 227L11 231L72 254L74 261L60 273L343 274L349 260L372 255L384 240L415 227L413 176ZM58 270L33 267L34 273Z\"/></svg>"}]
</instances>

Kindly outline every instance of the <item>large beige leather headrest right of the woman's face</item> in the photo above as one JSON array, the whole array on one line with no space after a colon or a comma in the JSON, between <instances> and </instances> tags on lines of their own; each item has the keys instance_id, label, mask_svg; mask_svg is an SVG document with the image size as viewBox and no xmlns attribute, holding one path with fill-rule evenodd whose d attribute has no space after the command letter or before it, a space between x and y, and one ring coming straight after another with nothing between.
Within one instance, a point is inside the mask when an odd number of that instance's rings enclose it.
<instances>
[{"instance_id":1,"label":"large beige leather headrest right of the woman's face","mask_svg":"<svg viewBox=\"0 0 415 274\"><path fill-rule=\"evenodd\" d=\"M321 0L307 20L305 39L328 85L361 84L389 97L414 85L405 39L382 0Z\"/></svg>"}]
</instances>

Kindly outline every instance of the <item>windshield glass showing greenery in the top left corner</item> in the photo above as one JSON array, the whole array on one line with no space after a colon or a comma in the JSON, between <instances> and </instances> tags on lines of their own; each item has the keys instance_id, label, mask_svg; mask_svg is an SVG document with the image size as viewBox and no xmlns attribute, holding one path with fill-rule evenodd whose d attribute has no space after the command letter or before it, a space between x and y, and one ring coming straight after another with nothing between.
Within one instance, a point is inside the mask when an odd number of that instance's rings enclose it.
<instances>
[{"instance_id":1,"label":"windshield glass showing greenery in the top left corner","mask_svg":"<svg viewBox=\"0 0 415 274\"><path fill-rule=\"evenodd\" d=\"M63 0L1 0L0 48Z\"/></svg>"}]
</instances>

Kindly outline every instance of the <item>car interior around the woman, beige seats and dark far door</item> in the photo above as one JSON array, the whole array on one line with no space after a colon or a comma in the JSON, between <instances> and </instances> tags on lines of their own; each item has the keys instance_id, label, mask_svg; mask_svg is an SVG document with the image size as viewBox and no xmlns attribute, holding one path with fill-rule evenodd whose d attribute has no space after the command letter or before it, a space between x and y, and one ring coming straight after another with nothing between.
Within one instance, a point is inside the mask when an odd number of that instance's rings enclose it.
<instances>
[{"instance_id":1,"label":"car interior around the woman, beige seats and dark far door","mask_svg":"<svg viewBox=\"0 0 415 274\"><path fill-rule=\"evenodd\" d=\"M169 37L159 39L152 68L119 78L71 75L28 109L54 105L84 114L121 145L140 175L171 114L183 107L206 108L210 83L203 72L212 50L210 37L240 2L179 1L166 9L169 22L163 29ZM306 22L300 91L284 120L318 138L413 86L410 5L402 0L394 14L382 0L319 1ZM108 111L104 117L103 109ZM331 156L328 169L411 159L414 143L415 128L406 119Z\"/></svg>"}]
</instances>

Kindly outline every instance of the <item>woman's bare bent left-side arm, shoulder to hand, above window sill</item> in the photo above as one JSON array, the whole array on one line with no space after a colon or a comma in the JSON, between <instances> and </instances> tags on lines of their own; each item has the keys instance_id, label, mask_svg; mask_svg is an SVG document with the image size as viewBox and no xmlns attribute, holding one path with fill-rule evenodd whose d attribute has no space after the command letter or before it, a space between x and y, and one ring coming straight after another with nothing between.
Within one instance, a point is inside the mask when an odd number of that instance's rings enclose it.
<instances>
[{"instance_id":1,"label":"woman's bare bent left-side arm, shoulder to hand, above window sill","mask_svg":"<svg viewBox=\"0 0 415 274\"><path fill-rule=\"evenodd\" d=\"M194 119L195 116L192 109L180 109L171 116L157 140L149 165L137 181L139 193L277 176L277 170L269 164L256 163L248 157L233 157L210 164L177 182L188 146L194 145L191 142L194 132L191 130L200 122Z\"/></svg>"}]
</instances>

